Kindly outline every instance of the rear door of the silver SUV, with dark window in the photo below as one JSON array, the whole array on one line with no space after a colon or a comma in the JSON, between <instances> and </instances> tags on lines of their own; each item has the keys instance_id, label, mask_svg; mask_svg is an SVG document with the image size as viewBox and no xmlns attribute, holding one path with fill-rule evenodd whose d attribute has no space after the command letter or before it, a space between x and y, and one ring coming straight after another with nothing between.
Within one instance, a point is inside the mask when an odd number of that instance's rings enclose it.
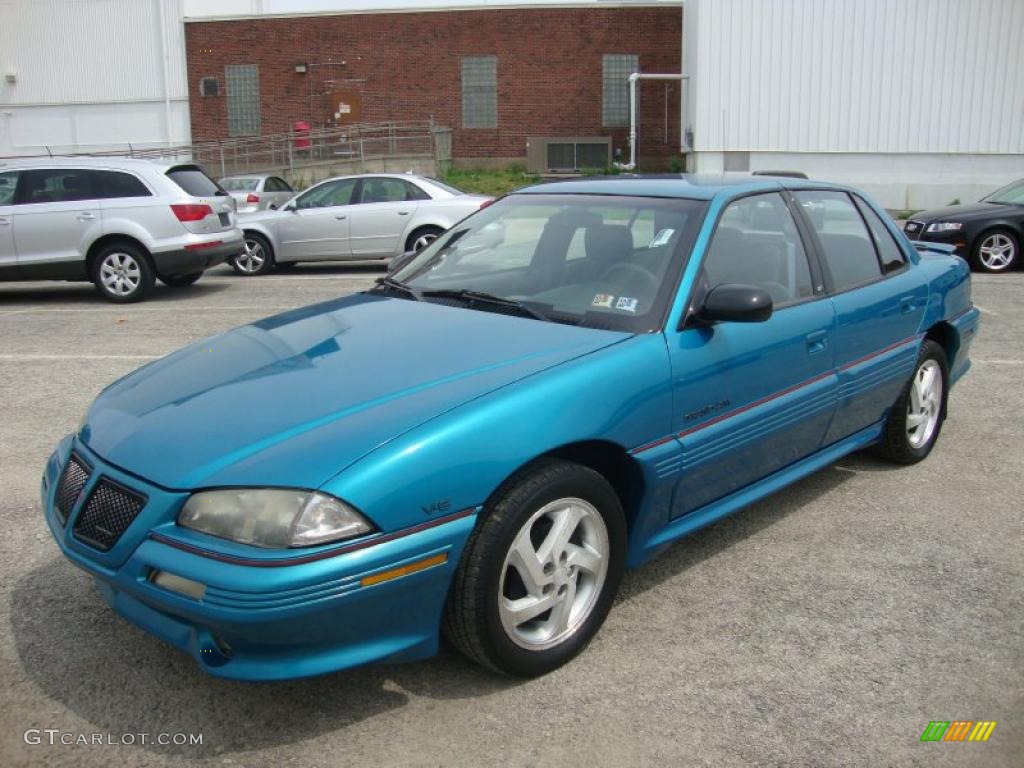
<instances>
[{"instance_id":1,"label":"rear door of the silver SUV, with dark window","mask_svg":"<svg viewBox=\"0 0 1024 768\"><path fill-rule=\"evenodd\" d=\"M11 218L18 267L82 262L84 274L86 250L101 228L92 172L81 168L23 170L14 204Z\"/></svg>"}]
</instances>

